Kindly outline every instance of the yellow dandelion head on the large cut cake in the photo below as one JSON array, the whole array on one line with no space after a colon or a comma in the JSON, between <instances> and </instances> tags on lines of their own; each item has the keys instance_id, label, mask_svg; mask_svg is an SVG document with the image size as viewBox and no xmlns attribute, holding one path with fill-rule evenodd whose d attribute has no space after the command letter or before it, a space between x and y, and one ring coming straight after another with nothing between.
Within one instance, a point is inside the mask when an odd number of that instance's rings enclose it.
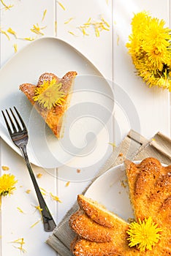
<instances>
[{"instance_id":1,"label":"yellow dandelion head on the large cut cake","mask_svg":"<svg viewBox=\"0 0 171 256\"><path fill-rule=\"evenodd\" d=\"M157 227L151 217L140 220L139 223L132 222L129 225L129 246L137 246L140 252L145 252L146 249L152 250L153 246L158 243L161 238L161 228Z\"/></svg>"}]
</instances>

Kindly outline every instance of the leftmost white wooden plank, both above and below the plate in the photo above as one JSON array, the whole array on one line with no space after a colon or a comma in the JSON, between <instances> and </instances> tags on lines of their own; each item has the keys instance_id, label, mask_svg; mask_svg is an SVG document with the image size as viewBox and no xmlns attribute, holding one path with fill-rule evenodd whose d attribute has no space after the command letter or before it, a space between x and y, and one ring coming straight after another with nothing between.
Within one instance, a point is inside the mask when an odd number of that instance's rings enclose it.
<instances>
[{"instance_id":1,"label":"leftmost white wooden plank, both above and below the plate","mask_svg":"<svg viewBox=\"0 0 171 256\"><path fill-rule=\"evenodd\" d=\"M14 44L21 50L30 41L23 40L24 37L43 37L54 36L55 34L55 12L54 1L4 1L6 4L14 4L11 10L4 10L1 4L1 29L7 31L11 28L16 32L17 38L9 34L9 39L5 34L1 34L1 66L9 61L15 55ZM44 20L42 20L44 11L47 10ZM33 25L39 24L44 35L34 34L30 29ZM23 67L24 68L24 67ZM20 70L22 72L22 70ZM28 71L29 72L29 71ZM10 75L10 74L9 74ZM41 74L40 74L41 75ZM5 106L4 106L5 107ZM28 170L23 159L12 151L4 141L1 142L1 165L9 166L9 171L18 179L17 189L10 197L3 198L1 206L1 256L18 255L19 249L10 241L18 238L24 238L27 255L56 255L56 252L50 248L45 241L50 233L45 233L42 222L31 228L31 225L37 222L40 215L35 211L34 206L38 205L37 196L28 175ZM57 195L56 169L43 170L33 166L34 173L42 173L42 178L37 178L39 187L45 189L48 193L45 196L47 206L57 222L58 203L50 198L49 192ZM1 174L4 171L1 170ZM31 189L30 194L26 194L26 189ZM20 207L25 213L21 214L17 207ZM35 240L35 238L37 238ZM15 245L15 246L14 246Z\"/></svg>"}]
</instances>

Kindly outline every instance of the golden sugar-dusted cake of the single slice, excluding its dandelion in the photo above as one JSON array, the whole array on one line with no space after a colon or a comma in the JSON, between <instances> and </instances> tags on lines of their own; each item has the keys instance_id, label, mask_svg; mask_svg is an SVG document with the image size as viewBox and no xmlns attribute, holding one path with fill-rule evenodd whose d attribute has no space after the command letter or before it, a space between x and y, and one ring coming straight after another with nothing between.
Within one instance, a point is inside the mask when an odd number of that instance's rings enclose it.
<instances>
[{"instance_id":1,"label":"golden sugar-dusted cake of the single slice, excluding its dandelion","mask_svg":"<svg viewBox=\"0 0 171 256\"><path fill-rule=\"evenodd\" d=\"M42 116L50 129L52 129L54 135L56 135L56 138L61 138L62 135L64 114L69 107L70 97L72 94L72 86L76 75L77 72L70 71L67 72L63 78L58 78L53 73L46 72L40 75L36 86L31 83L23 83L22 85L20 85L20 90L23 91L31 104L34 105L34 108L37 110L40 116ZM56 105L48 110L47 108L43 108L41 105L39 105L39 103L34 101L34 90L36 87L42 85L44 80L51 81L53 80L53 78L56 79L57 83L62 83L61 90L64 91L66 96L64 97L64 102L62 103L62 105Z\"/></svg>"}]
</instances>

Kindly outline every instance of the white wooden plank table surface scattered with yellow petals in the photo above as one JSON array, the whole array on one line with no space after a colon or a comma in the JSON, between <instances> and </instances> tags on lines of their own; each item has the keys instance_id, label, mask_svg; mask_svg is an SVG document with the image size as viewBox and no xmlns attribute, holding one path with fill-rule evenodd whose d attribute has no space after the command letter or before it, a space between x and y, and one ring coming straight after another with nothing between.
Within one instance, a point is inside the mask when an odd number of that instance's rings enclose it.
<instances>
[{"instance_id":1,"label":"white wooden plank table surface scattered with yellow petals","mask_svg":"<svg viewBox=\"0 0 171 256\"><path fill-rule=\"evenodd\" d=\"M7 35L0 34L1 67L17 54L14 45L17 45L20 51L31 43L23 38L50 36L63 39L83 53L102 72L104 78L114 82L116 102L113 117L113 141L110 142L120 143L129 129L137 130L146 138L151 138L158 131L170 135L170 94L155 88L148 89L142 83L142 80L134 73L131 57L125 47L131 32L130 23L133 13L147 10L154 17L163 18L167 26L171 26L170 0L61 0L63 6L54 0L4 0L4 3L8 6L13 5L13 7L5 10L1 2L1 30L7 31L11 28L16 32L17 38L9 33L9 39ZM42 19L45 10L47 12ZM83 35L83 32L78 29L87 22L88 18L97 21L101 15L110 24L109 31L102 31L100 36L96 37L93 28L88 28L89 35ZM72 19L69 20L70 18ZM42 29L44 35L34 34L30 30L37 23L39 27L45 26L45 29ZM126 98L123 98L123 95ZM26 244L23 248L26 249L28 256L56 255L56 252L45 244L50 234L44 232L42 222L31 227L40 217L39 212L34 208L37 206L34 188L23 159L4 140L1 140L2 165L9 167L6 173L14 174L18 179L18 184L14 194L2 200L0 255L20 255L20 250L15 247L18 244L11 243L18 238L24 238ZM77 168L84 171L80 159L75 159L69 165L53 170L33 167L35 175L42 173L42 178L37 178L39 187L57 195L62 202L52 200L49 194L45 197L56 219L56 224L61 221L66 211L75 202L77 194L81 193L88 184L88 180L81 181L80 178L80 182L70 181L66 186L69 180L62 179L61 173L73 167L75 172ZM98 162L95 167L99 169ZM91 169L91 166L89 168ZM1 175L4 173L5 171L1 169ZM27 189L31 189L30 194L26 193ZM24 213L20 213L18 207Z\"/></svg>"}]
</instances>

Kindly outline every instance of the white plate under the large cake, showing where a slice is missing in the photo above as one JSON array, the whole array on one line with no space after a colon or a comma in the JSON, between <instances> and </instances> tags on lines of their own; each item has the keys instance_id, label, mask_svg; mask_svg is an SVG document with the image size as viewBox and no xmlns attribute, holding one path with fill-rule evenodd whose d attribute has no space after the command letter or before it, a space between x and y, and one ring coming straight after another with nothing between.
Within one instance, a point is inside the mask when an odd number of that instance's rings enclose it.
<instances>
[{"instance_id":1,"label":"white plate under the large cake, showing where a slice is missing","mask_svg":"<svg viewBox=\"0 0 171 256\"><path fill-rule=\"evenodd\" d=\"M139 161L135 163L139 163ZM102 203L109 211L113 211L126 221L129 218L134 218L129 200L129 185L123 164L117 165L99 176L88 188L85 195Z\"/></svg>"}]
</instances>

